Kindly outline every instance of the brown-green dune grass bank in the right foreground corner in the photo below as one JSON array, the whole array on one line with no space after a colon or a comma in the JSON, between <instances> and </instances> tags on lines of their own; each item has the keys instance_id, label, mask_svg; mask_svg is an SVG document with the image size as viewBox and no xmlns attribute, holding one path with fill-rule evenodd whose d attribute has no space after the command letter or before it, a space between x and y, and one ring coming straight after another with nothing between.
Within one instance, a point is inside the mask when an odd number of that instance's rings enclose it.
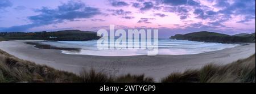
<instances>
[{"instance_id":1,"label":"brown-green dune grass bank in the right foreground corner","mask_svg":"<svg viewBox=\"0 0 256 94\"><path fill-rule=\"evenodd\" d=\"M255 83L255 54L224 66L209 64L200 70L174 72L163 83Z\"/></svg>"}]
</instances>

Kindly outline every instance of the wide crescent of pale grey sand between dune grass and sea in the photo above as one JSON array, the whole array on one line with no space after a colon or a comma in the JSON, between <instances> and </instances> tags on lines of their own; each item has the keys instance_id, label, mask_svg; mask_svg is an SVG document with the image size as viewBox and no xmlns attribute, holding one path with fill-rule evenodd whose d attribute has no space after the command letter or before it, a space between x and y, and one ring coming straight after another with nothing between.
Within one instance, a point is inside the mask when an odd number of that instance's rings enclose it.
<instances>
[{"instance_id":1,"label":"wide crescent of pale grey sand between dune grass and sea","mask_svg":"<svg viewBox=\"0 0 256 94\"><path fill-rule=\"evenodd\" d=\"M154 78L156 82L172 72L199 69L208 63L225 65L255 53L255 44L249 44L192 55L102 57L63 54L60 50L38 49L34 45L24 42L26 41L1 41L0 49L20 59L76 74L82 70L93 68L98 72L105 72L113 76L128 73L144 74Z\"/></svg>"}]
</instances>

